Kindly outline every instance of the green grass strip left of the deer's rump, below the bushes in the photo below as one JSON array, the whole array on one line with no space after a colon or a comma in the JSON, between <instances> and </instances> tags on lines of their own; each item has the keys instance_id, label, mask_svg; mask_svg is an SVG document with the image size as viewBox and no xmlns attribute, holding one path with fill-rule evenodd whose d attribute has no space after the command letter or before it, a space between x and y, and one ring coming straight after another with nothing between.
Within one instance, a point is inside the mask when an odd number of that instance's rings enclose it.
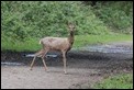
<instances>
[{"instance_id":1,"label":"green grass strip left of the deer's rump, below the bushes","mask_svg":"<svg viewBox=\"0 0 134 90\"><path fill-rule=\"evenodd\" d=\"M2 50L15 50L15 52L35 52L40 49L42 46L38 44L37 38L29 38L24 42L16 41L12 43L11 41L2 42L1 49Z\"/></svg>"}]
</instances>

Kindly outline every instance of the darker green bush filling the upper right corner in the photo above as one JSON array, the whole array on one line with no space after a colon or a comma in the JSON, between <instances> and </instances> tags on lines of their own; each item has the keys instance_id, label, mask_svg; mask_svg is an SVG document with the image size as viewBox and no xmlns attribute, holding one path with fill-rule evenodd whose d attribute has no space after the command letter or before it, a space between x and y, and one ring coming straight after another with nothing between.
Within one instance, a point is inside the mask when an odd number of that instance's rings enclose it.
<instances>
[{"instance_id":1,"label":"darker green bush filling the upper right corner","mask_svg":"<svg viewBox=\"0 0 134 90\"><path fill-rule=\"evenodd\" d=\"M133 31L132 1L98 2L94 13L114 32L130 33Z\"/></svg>"}]
</instances>

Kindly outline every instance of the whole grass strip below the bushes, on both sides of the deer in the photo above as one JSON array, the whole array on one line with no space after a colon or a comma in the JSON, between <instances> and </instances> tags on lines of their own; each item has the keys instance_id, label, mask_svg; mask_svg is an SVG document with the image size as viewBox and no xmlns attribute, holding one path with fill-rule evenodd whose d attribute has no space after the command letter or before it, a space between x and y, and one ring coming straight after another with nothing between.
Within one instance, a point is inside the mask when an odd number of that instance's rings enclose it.
<instances>
[{"instance_id":1,"label":"whole grass strip below the bushes, on both sides of the deer","mask_svg":"<svg viewBox=\"0 0 134 90\"><path fill-rule=\"evenodd\" d=\"M109 42L132 41L132 35L126 34L108 34L108 35L76 35L74 47L86 46L90 44L103 44ZM24 42L12 43L11 40L1 41L1 50L16 50L16 52L35 52L41 49L37 38L27 38Z\"/></svg>"}]
</instances>

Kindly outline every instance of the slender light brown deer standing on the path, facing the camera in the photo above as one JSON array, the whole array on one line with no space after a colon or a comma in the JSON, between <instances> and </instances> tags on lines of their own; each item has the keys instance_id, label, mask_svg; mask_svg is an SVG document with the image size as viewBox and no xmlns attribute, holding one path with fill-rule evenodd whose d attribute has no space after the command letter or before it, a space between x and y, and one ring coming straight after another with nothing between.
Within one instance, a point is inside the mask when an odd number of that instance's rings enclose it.
<instances>
[{"instance_id":1,"label":"slender light brown deer standing on the path, facing the camera","mask_svg":"<svg viewBox=\"0 0 134 90\"><path fill-rule=\"evenodd\" d=\"M71 23L68 23L68 29L69 29L69 36L68 37L46 36L46 37L40 40L40 44L42 44L43 48L34 54L34 58L31 63L31 70L33 68L35 58L41 57L42 61L44 64L44 67L45 67L45 71L47 71L47 66L46 66L44 57L46 57L46 54L51 50L59 50L63 54L64 72L67 74L67 71L66 71L66 60L67 60L66 55L67 55L68 50L71 49L72 44L74 44L75 25Z\"/></svg>"}]
</instances>

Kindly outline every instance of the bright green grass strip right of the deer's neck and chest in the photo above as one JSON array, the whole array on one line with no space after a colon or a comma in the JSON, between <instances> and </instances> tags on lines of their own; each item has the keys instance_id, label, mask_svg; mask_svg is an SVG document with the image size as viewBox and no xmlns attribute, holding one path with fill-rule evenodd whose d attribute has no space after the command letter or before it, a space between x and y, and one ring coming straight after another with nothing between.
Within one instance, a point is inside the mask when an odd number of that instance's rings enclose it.
<instances>
[{"instance_id":1,"label":"bright green grass strip right of the deer's neck and chest","mask_svg":"<svg viewBox=\"0 0 134 90\"><path fill-rule=\"evenodd\" d=\"M80 47L91 44L104 44L109 42L133 41L132 35L108 34L108 35L78 35L75 36L74 47Z\"/></svg>"}]
</instances>

